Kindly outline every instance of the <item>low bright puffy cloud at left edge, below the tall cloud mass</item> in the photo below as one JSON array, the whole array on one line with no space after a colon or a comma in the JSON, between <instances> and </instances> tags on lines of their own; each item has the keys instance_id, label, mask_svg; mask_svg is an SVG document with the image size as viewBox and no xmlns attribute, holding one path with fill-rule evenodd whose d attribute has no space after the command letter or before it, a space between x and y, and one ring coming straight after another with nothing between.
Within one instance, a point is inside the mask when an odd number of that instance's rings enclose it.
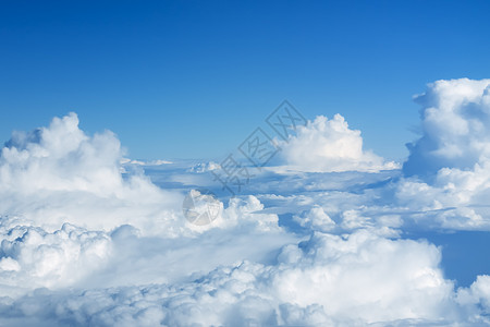
<instances>
[{"instance_id":1,"label":"low bright puffy cloud at left edge, below the tall cloud mass","mask_svg":"<svg viewBox=\"0 0 490 327\"><path fill-rule=\"evenodd\" d=\"M103 267L111 254L110 235L102 231L64 223L47 232L39 227L17 226L2 230L0 288L8 294L15 288L66 287Z\"/></svg>"}]
</instances>

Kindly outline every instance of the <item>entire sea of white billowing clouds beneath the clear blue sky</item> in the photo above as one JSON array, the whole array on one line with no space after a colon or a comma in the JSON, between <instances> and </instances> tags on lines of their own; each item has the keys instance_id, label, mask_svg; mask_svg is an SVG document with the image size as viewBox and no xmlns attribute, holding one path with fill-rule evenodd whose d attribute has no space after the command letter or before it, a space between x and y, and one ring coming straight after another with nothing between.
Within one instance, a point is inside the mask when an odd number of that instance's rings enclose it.
<instances>
[{"instance_id":1,"label":"entire sea of white billowing clouds beneath the clear blue sky","mask_svg":"<svg viewBox=\"0 0 490 327\"><path fill-rule=\"evenodd\" d=\"M0 156L0 326L490 324L490 276L458 286L441 247L406 237L490 229L490 80L438 81L415 100L405 162L319 116L205 226L182 204L216 187L215 162L130 160L75 113L14 132Z\"/></svg>"}]
</instances>

